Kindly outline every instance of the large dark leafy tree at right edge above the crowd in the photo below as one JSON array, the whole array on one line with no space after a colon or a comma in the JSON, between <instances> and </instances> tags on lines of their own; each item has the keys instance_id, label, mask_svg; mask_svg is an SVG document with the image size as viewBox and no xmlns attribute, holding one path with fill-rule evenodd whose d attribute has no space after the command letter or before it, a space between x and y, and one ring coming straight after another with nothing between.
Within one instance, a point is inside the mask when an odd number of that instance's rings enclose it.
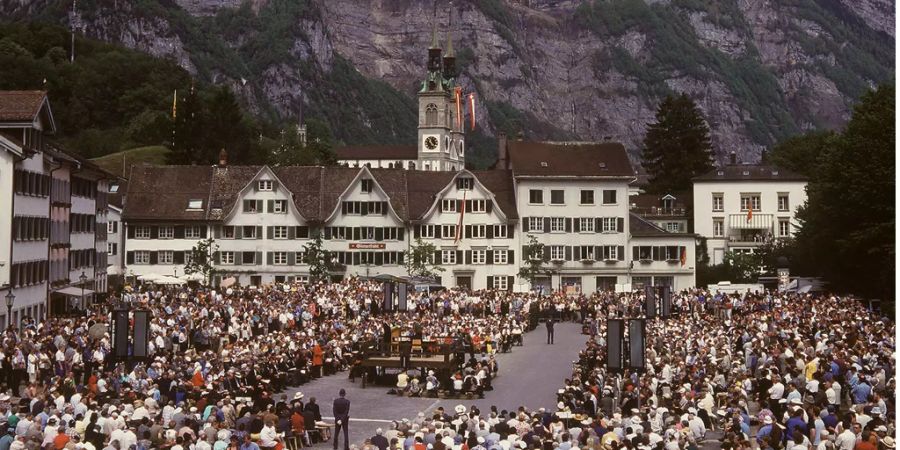
<instances>
[{"instance_id":1,"label":"large dark leafy tree at right edge above the crowd","mask_svg":"<svg viewBox=\"0 0 900 450\"><path fill-rule=\"evenodd\" d=\"M797 245L839 291L894 298L896 135L893 85L863 95L825 146L797 218Z\"/></svg>"}]
</instances>

